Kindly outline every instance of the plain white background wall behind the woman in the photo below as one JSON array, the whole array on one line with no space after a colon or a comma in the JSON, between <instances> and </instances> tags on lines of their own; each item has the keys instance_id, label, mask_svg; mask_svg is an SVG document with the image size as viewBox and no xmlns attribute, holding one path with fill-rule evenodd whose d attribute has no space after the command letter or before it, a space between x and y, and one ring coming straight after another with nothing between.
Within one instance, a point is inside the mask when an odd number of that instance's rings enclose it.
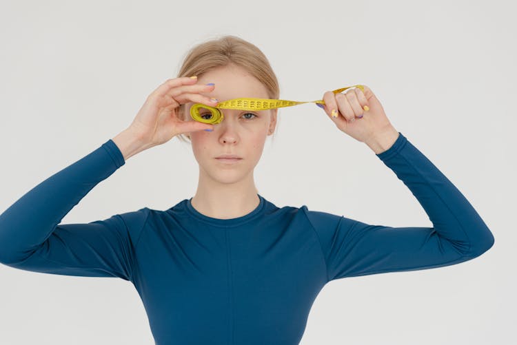
<instances>
[{"instance_id":1,"label":"plain white background wall behind the woman","mask_svg":"<svg viewBox=\"0 0 517 345\"><path fill-rule=\"evenodd\" d=\"M193 45L234 34L270 59L282 99L368 85L495 237L461 264L330 282L301 344L516 344L515 13L511 1L2 1L0 212L125 129ZM307 103L278 117L255 170L267 200L432 226L323 110ZM197 178L192 149L173 138L129 158L62 222L168 209L194 195ZM154 341L130 282L0 265L0 344Z\"/></svg>"}]
</instances>

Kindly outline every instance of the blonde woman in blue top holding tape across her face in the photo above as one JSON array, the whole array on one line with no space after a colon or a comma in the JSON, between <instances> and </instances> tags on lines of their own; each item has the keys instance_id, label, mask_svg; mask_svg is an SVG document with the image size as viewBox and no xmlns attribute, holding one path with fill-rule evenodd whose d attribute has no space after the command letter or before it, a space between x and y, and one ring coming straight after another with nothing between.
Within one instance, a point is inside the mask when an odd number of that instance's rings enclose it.
<instances>
[{"instance_id":1,"label":"blonde woman in blue top holding tape across her face","mask_svg":"<svg viewBox=\"0 0 517 345\"><path fill-rule=\"evenodd\" d=\"M224 109L216 125L194 121L189 109L278 96L276 77L256 46L235 36L196 46L179 77L154 90L128 128L1 214L0 261L132 282L156 344L298 344L327 282L458 264L494 244L472 205L394 129L366 86L325 92L323 109L394 171L434 227L394 228L305 205L276 207L258 193L253 171L277 109ZM175 136L191 140L199 163L192 198L165 211L144 207L88 224L59 224L125 160Z\"/></svg>"}]
</instances>

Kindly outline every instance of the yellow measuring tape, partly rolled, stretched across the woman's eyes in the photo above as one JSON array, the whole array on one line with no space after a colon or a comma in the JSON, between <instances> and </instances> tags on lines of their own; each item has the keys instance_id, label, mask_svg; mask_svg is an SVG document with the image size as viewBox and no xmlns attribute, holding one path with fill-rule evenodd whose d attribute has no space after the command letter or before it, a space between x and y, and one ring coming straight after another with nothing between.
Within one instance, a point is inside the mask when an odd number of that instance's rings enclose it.
<instances>
[{"instance_id":1,"label":"yellow measuring tape, partly rolled, stretched across the woman's eyes","mask_svg":"<svg viewBox=\"0 0 517 345\"><path fill-rule=\"evenodd\" d=\"M334 94L338 94L343 90L347 90L350 87L358 87L361 91L365 91L363 85L352 85L347 87L342 87L341 89L334 90ZM216 125L217 123L221 123L224 119L223 112L219 109L239 109L239 110L267 110L281 107L292 107L293 105L303 104L303 103L316 103L316 104L325 104L325 101L307 101L307 102L298 102L298 101L286 101L283 99L269 99L269 98L234 98L229 99L224 102L217 103L216 106L211 107L210 105L205 105L203 103L194 103L192 107L190 107L190 116L195 120L202 123L211 123ZM210 114L210 118L203 118L203 116Z\"/></svg>"}]
</instances>

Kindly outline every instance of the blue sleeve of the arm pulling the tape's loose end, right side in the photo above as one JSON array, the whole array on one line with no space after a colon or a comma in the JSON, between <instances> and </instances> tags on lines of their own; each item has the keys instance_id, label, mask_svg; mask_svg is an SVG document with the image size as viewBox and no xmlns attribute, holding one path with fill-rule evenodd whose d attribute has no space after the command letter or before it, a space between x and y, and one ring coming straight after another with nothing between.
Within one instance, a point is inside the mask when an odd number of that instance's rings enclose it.
<instances>
[{"instance_id":1,"label":"blue sleeve of the arm pulling the tape's loose end, right side","mask_svg":"<svg viewBox=\"0 0 517 345\"><path fill-rule=\"evenodd\" d=\"M412 191L433 227L367 224L304 205L328 281L449 266L492 247L494 236L465 196L403 134L376 156Z\"/></svg>"}]
</instances>

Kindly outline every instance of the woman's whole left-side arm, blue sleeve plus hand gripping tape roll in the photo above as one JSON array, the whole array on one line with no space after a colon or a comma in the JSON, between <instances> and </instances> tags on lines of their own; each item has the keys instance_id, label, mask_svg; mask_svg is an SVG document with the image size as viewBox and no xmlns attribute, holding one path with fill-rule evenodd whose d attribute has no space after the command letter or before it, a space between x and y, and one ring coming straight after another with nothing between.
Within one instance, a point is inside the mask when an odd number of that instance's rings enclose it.
<instances>
[{"instance_id":1,"label":"woman's whole left-side arm, blue sleeve plus hand gripping tape roll","mask_svg":"<svg viewBox=\"0 0 517 345\"><path fill-rule=\"evenodd\" d=\"M134 154L176 134L212 125L182 121L176 107L210 104L199 94L213 85L169 79L148 96L133 123L87 156L43 180L0 214L0 262L62 275L132 278L134 248L150 210L116 214L88 224L59 224L72 207Z\"/></svg>"}]
</instances>

